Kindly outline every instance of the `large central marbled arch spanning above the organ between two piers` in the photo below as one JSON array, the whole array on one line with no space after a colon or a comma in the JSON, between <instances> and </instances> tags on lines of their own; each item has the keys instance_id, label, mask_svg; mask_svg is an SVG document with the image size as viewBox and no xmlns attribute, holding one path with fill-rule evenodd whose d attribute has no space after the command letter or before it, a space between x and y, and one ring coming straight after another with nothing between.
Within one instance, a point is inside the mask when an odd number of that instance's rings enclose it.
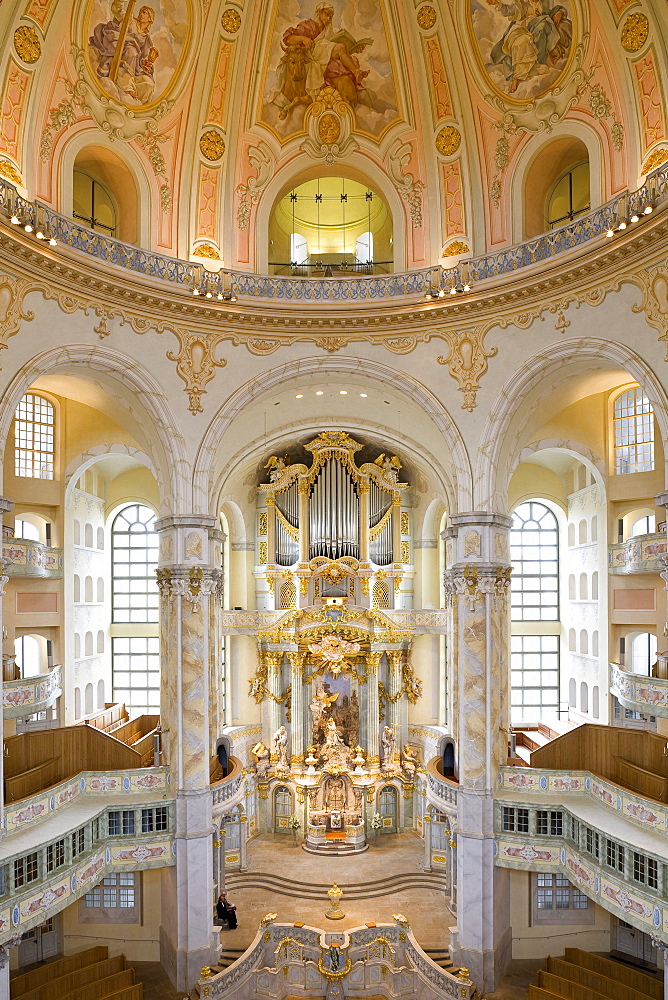
<instances>
[{"instance_id":1,"label":"large central marbled arch spanning above the organ between two piers","mask_svg":"<svg viewBox=\"0 0 668 1000\"><path fill-rule=\"evenodd\" d=\"M221 406L213 420L207 428L206 434L198 449L195 458L193 471L193 499L194 508L202 512L218 509L218 494L221 490L221 473L217 468L217 446L223 435L228 431L232 422L251 403L255 402L259 396L275 391L286 382L296 378L309 375L335 377L344 375L361 375L369 381L376 381L382 385L387 385L394 391L406 394L415 404L422 407L427 416L443 435L444 441L448 444L450 452L451 468L448 470L451 480L451 488L447 490L450 494L448 502L452 510L470 510L473 496L471 479L471 463L468 452L464 444L462 435L454 423L449 412L436 396L426 389L420 382L395 368L381 364L378 361L359 358L305 358L300 361L290 361L285 365L263 372L249 379ZM311 423L311 421L309 421ZM315 424L313 424L315 427ZM349 429L351 432L365 425L359 421L351 421ZM366 425L369 426L368 424ZM299 430L295 433L306 433L307 427L299 425ZM322 426L318 427L322 430ZM285 437L286 429L283 428L277 435L277 440ZM391 434L390 437L394 435ZM258 442L259 446L259 442ZM272 441L263 439L263 448L271 448ZM398 445L401 447L401 445ZM248 449L246 449L248 451ZM421 450L418 448L418 452ZM439 463L430 457L430 460L438 468ZM445 475L447 482L448 476Z\"/></svg>"}]
</instances>

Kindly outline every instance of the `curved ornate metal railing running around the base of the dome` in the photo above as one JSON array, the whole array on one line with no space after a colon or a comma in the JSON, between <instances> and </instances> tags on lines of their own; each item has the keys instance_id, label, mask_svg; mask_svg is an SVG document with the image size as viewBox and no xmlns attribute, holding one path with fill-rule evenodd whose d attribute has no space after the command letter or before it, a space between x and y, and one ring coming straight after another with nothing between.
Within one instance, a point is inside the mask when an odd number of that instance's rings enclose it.
<instances>
[{"instance_id":1,"label":"curved ornate metal railing running around the base of the dome","mask_svg":"<svg viewBox=\"0 0 668 1000\"><path fill-rule=\"evenodd\" d=\"M453 289L455 293L462 291L472 282L513 274L524 267L582 247L615 230L620 222L626 224L635 216L642 218L667 196L668 164L664 164L648 175L638 190L625 191L568 225L505 250L471 258L461 266L435 266L372 277L298 278L230 270L213 273L205 271L200 264L121 243L93 232L47 205L28 201L19 195L12 184L0 178L0 212L7 218L14 216L21 225L30 225L32 231L39 229L58 244L105 264L167 282L182 291L197 291L212 299L227 301L234 301L240 296L245 299L301 302L369 302L428 294L442 297Z\"/></svg>"}]
</instances>

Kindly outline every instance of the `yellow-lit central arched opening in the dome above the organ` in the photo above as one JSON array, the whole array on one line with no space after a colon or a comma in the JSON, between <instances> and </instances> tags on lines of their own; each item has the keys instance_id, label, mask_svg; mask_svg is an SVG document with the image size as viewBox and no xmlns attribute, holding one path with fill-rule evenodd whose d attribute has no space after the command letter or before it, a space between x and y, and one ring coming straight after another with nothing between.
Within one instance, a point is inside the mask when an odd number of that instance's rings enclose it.
<instances>
[{"instance_id":1,"label":"yellow-lit central arched opening in the dome above the organ","mask_svg":"<svg viewBox=\"0 0 668 1000\"><path fill-rule=\"evenodd\" d=\"M268 250L271 274L387 274L394 270L392 216L368 184L316 177L274 205Z\"/></svg>"}]
</instances>

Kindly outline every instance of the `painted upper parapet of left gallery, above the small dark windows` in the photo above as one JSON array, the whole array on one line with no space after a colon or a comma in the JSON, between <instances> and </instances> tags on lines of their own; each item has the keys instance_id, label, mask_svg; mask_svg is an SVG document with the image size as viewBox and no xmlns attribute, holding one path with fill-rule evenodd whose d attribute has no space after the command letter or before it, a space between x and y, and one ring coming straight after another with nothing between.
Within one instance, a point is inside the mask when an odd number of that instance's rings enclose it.
<instances>
[{"instance_id":1,"label":"painted upper parapet of left gallery, above the small dark windows","mask_svg":"<svg viewBox=\"0 0 668 1000\"><path fill-rule=\"evenodd\" d=\"M5 809L4 826L8 835L37 821L50 819L59 809L82 796L116 796L131 803L133 792L163 792L171 799L171 777L167 767L144 768L136 771L82 771L58 785L12 802ZM128 795L130 793L130 796ZM104 808L105 802L101 802Z\"/></svg>"}]
</instances>

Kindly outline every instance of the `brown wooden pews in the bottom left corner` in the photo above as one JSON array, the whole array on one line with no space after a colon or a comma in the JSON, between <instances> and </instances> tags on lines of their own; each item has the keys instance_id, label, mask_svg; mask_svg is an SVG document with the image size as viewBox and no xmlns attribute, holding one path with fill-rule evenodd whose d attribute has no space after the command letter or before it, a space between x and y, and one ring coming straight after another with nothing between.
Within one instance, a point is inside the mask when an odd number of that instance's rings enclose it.
<instances>
[{"instance_id":1,"label":"brown wooden pews in the bottom left corner","mask_svg":"<svg viewBox=\"0 0 668 1000\"><path fill-rule=\"evenodd\" d=\"M143 987L135 983L134 969L125 955L109 958L106 947L56 959L13 976L12 1000L142 1000Z\"/></svg>"}]
</instances>

